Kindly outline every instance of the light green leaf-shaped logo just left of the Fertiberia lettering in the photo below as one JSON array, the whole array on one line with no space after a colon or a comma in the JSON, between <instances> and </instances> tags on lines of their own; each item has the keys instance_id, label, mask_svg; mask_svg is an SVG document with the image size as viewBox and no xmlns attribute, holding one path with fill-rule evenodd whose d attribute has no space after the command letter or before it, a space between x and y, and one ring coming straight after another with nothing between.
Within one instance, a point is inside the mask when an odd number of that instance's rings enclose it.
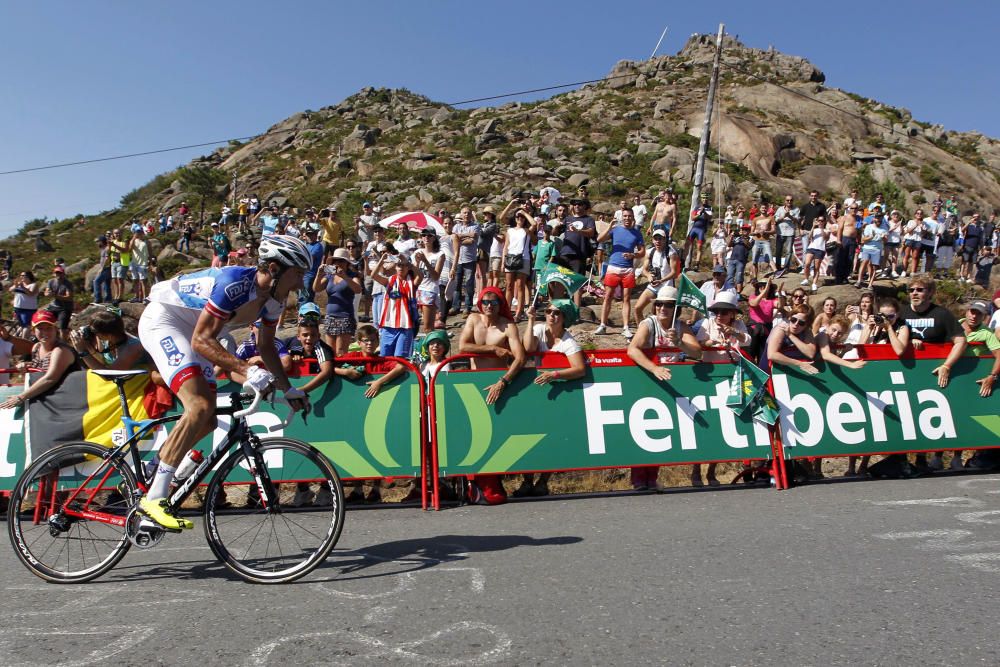
<instances>
[{"instance_id":1,"label":"light green leaf-shaped logo just left of the Fertiberia lettering","mask_svg":"<svg viewBox=\"0 0 1000 667\"><path fill-rule=\"evenodd\" d=\"M481 470L509 470L521 457L530 452L545 438L545 433L525 433L507 436L495 449L493 432L493 407L486 404L483 390L474 384L439 385L436 394L438 461L442 468L449 465L448 435L453 439L457 434L455 420L462 415L448 414L445 409L444 392L454 391L464 408L469 424L469 448L461 461L452 461L451 465L462 468L475 466ZM448 421L451 420L451 429ZM499 437L503 437L502 435ZM463 438L464 440L464 438ZM457 448L455 448L457 449ZM490 453L492 450L492 453ZM454 453L454 452L453 452ZM489 453L489 456L487 454Z\"/></svg>"}]
</instances>

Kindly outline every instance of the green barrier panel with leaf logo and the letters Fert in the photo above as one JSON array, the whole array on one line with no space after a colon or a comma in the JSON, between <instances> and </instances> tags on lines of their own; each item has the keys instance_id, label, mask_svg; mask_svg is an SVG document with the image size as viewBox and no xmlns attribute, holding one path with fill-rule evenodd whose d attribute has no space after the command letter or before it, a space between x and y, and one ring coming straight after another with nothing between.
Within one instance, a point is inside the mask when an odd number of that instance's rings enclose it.
<instances>
[{"instance_id":1,"label":"green barrier panel with leaf logo and the letters Fert","mask_svg":"<svg viewBox=\"0 0 1000 667\"><path fill-rule=\"evenodd\" d=\"M678 364L654 380L620 352L580 380L538 386L526 369L495 405L499 370L432 382L440 476L771 458L770 431L726 407L732 364Z\"/></svg>"}]
</instances>

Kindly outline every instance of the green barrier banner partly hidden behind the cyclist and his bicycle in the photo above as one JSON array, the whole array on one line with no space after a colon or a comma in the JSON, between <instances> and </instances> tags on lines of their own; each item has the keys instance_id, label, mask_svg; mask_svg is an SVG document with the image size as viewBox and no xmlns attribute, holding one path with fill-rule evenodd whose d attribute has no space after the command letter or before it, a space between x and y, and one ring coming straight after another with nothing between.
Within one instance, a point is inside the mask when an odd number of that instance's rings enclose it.
<instances>
[{"instance_id":1,"label":"green barrier banner partly hidden behind the cyclist and his bicycle","mask_svg":"<svg viewBox=\"0 0 1000 667\"><path fill-rule=\"evenodd\" d=\"M293 378L292 384L301 386L309 379ZM267 403L262 403L260 411L248 421L261 436L282 435L310 443L330 459L343 479L421 476L422 377L411 370L369 399L364 394L371 379L371 375L358 381L335 376L322 391L314 390L310 394L313 412L308 424L296 416L288 427L271 431L271 427L281 424L287 408L279 405L272 410ZM239 388L224 383L219 393ZM0 387L0 400L22 391L23 387ZM179 406L167 414L178 413ZM198 449L207 451L213 443L221 442L228 425L228 417L220 418L211 438L200 441ZM160 448L174 426L162 426L142 441L141 449L147 452L144 458L150 458L150 450ZM0 410L0 491L12 490L24 471L29 458L25 437L23 408ZM273 464L280 477L282 462Z\"/></svg>"}]
</instances>

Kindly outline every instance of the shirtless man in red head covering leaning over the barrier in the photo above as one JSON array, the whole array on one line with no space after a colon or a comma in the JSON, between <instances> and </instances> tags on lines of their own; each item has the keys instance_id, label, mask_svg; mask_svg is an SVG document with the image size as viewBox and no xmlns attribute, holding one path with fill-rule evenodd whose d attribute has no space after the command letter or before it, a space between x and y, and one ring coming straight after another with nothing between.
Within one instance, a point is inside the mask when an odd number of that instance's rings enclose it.
<instances>
[{"instance_id":1,"label":"shirtless man in red head covering leaning over the barrier","mask_svg":"<svg viewBox=\"0 0 1000 667\"><path fill-rule=\"evenodd\" d=\"M492 405L524 367L524 346L517 325L510 314L503 292L496 287L486 287L479 294L479 313L472 313L465 321L459 352L485 354L488 357L472 359L472 368L507 368L495 384L486 390L486 403Z\"/></svg>"}]
</instances>

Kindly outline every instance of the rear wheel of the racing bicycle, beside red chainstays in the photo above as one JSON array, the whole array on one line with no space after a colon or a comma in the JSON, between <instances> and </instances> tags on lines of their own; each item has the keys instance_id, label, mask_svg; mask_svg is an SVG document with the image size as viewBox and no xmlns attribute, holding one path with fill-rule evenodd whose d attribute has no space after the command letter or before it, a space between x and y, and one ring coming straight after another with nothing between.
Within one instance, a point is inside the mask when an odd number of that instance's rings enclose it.
<instances>
[{"instance_id":1,"label":"rear wheel of the racing bicycle, beside red chainstays","mask_svg":"<svg viewBox=\"0 0 1000 667\"><path fill-rule=\"evenodd\" d=\"M11 492L7 533L21 562L58 584L101 576L129 550L125 518L132 469L104 459L106 447L72 442L43 454Z\"/></svg>"}]
</instances>

